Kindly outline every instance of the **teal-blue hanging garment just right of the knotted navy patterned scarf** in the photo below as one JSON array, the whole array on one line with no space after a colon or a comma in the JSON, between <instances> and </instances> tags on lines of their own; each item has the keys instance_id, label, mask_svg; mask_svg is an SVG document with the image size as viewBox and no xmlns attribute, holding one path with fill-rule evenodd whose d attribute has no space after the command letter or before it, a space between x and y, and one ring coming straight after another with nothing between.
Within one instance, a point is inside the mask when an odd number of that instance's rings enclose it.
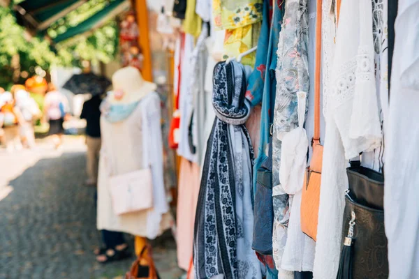
<instances>
[{"instance_id":1,"label":"teal-blue hanging garment just right of the knotted navy patterned scarf","mask_svg":"<svg viewBox=\"0 0 419 279\"><path fill-rule=\"evenodd\" d=\"M276 93L276 79L274 70L277 68L277 47L279 39L279 31L281 30L281 1L275 1L272 6L272 18L270 17L271 7L270 1L263 3L263 22L258 40L258 50L256 51L256 65L254 66L253 73L248 80L246 97L250 100L251 105L255 106L262 103L260 109L260 138L258 141L257 158L253 167L253 191L255 197L258 199L256 203L266 204L270 202L272 208L272 197L265 197L266 194L257 195L257 191L265 191L265 188L258 189L256 179L259 168L263 165L268 158L268 143L270 138L270 126L273 121L272 110L274 106L274 98ZM266 51L267 50L267 51ZM270 156L272 158L272 156ZM272 162L265 163L265 165L272 165ZM272 167L271 167L272 169ZM271 181L272 183L272 181ZM272 192L272 189L271 189ZM272 195L271 195L272 196ZM266 200L267 199L267 200ZM259 220L267 218L266 212L260 206L255 208L255 216ZM272 212L273 214L273 212ZM253 231L255 233L255 231ZM271 243L272 246L272 230L263 236L264 239L258 239L263 243ZM267 238L267 239L265 239ZM258 257L267 268L268 278L277 278L278 271L275 268L272 255L260 255Z\"/></svg>"}]
</instances>

